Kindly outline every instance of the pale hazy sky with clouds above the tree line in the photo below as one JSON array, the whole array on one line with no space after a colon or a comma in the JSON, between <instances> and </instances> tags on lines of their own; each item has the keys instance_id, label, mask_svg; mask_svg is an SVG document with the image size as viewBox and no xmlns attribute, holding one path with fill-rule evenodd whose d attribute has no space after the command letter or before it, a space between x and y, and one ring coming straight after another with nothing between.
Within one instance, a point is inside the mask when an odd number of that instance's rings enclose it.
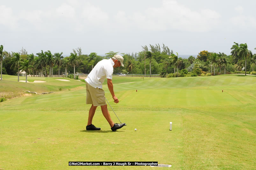
<instances>
[{"instance_id":1,"label":"pale hazy sky with clouds above the tree line","mask_svg":"<svg viewBox=\"0 0 256 170\"><path fill-rule=\"evenodd\" d=\"M81 47L102 55L164 43L179 55L196 55L230 54L237 42L256 53L255 6L253 0L10 0L0 5L0 44L9 52L68 55Z\"/></svg>"}]
</instances>

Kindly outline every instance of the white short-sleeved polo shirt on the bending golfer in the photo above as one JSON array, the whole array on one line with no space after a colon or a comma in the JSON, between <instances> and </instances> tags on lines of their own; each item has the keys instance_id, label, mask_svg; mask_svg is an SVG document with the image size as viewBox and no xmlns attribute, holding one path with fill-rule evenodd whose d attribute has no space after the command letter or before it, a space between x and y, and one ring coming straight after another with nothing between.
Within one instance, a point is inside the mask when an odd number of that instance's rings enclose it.
<instances>
[{"instance_id":1,"label":"white short-sleeved polo shirt on the bending golfer","mask_svg":"<svg viewBox=\"0 0 256 170\"><path fill-rule=\"evenodd\" d=\"M114 64L112 59L99 61L84 80L95 89L102 89L102 83L106 78L112 80Z\"/></svg>"}]
</instances>

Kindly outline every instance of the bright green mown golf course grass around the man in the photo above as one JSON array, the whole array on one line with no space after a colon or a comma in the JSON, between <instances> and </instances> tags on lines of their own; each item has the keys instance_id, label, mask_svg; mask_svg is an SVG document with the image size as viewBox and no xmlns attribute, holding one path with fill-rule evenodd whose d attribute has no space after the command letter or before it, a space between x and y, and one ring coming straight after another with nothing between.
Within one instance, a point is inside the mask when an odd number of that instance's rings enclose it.
<instances>
[{"instance_id":1,"label":"bright green mown golf course grass around the man","mask_svg":"<svg viewBox=\"0 0 256 170\"><path fill-rule=\"evenodd\" d=\"M256 167L256 76L113 77L119 103L113 102L106 82L105 96L127 124L116 132L100 108L93 124L101 130L85 130L90 108L85 83L16 78L4 75L0 89L56 92L0 103L0 169L159 169L68 166L68 161L158 161L172 169Z\"/></svg>"}]
</instances>

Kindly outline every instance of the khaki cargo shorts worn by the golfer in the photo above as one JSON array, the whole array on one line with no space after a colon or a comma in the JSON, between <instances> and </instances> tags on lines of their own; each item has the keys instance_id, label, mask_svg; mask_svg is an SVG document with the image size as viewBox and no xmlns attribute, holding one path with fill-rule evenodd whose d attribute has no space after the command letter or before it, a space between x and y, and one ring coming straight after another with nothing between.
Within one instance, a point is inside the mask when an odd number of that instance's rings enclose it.
<instances>
[{"instance_id":1,"label":"khaki cargo shorts worn by the golfer","mask_svg":"<svg viewBox=\"0 0 256 170\"><path fill-rule=\"evenodd\" d=\"M104 90L95 89L86 82L86 104L93 104L94 106L106 105Z\"/></svg>"}]
</instances>

